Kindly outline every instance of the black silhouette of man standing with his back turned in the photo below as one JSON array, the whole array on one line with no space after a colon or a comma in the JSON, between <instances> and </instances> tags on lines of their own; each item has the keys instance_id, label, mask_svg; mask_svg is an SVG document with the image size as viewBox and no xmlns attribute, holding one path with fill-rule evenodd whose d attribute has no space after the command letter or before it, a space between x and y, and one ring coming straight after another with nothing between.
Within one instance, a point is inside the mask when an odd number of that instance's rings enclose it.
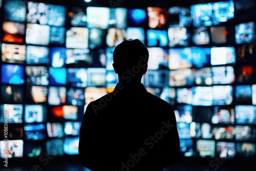
<instances>
[{"instance_id":1,"label":"black silhouette of man standing with his back turned","mask_svg":"<svg viewBox=\"0 0 256 171\"><path fill-rule=\"evenodd\" d=\"M141 83L148 50L139 39L116 46L113 92L92 101L79 139L81 164L94 171L162 171L179 159L180 140L172 106Z\"/></svg>"}]
</instances>

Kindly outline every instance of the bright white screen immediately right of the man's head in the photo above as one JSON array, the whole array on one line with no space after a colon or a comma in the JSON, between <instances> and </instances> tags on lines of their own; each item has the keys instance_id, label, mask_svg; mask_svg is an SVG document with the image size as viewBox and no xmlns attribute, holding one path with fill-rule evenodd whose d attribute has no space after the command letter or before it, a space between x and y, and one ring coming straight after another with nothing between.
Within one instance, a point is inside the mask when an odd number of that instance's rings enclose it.
<instances>
[{"instance_id":1,"label":"bright white screen immediately right of the man's head","mask_svg":"<svg viewBox=\"0 0 256 171\"><path fill-rule=\"evenodd\" d=\"M168 69L168 50L151 47L147 48L150 58L148 58L147 69L148 70L159 70Z\"/></svg>"}]
</instances>

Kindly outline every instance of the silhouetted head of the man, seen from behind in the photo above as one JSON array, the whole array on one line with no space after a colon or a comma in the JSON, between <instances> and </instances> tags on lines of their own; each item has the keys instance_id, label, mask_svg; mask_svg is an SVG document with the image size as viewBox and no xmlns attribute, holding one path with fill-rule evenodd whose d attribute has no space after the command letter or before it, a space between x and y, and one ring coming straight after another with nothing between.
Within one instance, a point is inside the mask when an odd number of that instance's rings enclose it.
<instances>
[{"instance_id":1,"label":"silhouetted head of the man, seen from behind","mask_svg":"<svg viewBox=\"0 0 256 171\"><path fill-rule=\"evenodd\" d=\"M113 53L113 67L122 75L128 70L142 77L147 70L148 50L139 39L127 39L116 46Z\"/></svg>"}]
</instances>

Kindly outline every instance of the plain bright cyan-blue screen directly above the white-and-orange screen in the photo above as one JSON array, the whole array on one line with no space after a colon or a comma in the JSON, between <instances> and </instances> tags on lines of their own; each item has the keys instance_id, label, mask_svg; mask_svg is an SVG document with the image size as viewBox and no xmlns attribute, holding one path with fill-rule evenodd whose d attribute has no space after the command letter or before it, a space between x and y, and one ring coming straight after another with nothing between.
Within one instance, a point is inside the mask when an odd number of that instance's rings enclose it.
<instances>
[{"instance_id":1,"label":"plain bright cyan-blue screen directly above the white-and-orange screen","mask_svg":"<svg viewBox=\"0 0 256 171\"><path fill-rule=\"evenodd\" d=\"M65 86L67 83L67 69L66 68L49 68L49 78L51 86Z\"/></svg>"}]
</instances>

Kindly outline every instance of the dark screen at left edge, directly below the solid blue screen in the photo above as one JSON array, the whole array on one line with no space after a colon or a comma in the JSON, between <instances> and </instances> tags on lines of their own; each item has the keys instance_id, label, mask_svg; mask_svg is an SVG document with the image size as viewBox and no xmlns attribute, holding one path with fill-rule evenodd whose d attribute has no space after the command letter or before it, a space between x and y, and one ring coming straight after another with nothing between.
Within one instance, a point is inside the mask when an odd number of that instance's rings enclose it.
<instances>
[{"instance_id":1,"label":"dark screen at left edge, directly below the solid blue screen","mask_svg":"<svg viewBox=\"0 0 256 171\"><path fill-rule=\"evenodd\" d=\"M24 91L22 86L17 85L3 85L1 86L2 103L7 104L21 104L24 99Z\"/></svg>"}]
</instances>

